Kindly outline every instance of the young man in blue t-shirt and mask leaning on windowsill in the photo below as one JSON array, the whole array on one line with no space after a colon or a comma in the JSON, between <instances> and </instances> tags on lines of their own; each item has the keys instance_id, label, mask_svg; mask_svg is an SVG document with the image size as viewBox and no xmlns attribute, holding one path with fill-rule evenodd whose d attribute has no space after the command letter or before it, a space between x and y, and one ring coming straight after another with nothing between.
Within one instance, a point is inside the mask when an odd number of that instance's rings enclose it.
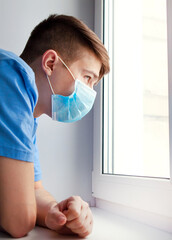
<instances>
[{"instance_id":1,"label":"young man in blue t-shirt and mask leaning on windowsill","mask_svg":"<svg viewBox=\"0 0 172 240\"><path fill-rule=\"evenodd\" d=\"M0 50L0 227L12 237L25 236L36 223L62 234L91 233L86 202L73 196L58 203L42 186L36 119L45 113L80 120L108 71L101 41L70 16L41 22L20 57Z\"/></svg>"}]
</instances>

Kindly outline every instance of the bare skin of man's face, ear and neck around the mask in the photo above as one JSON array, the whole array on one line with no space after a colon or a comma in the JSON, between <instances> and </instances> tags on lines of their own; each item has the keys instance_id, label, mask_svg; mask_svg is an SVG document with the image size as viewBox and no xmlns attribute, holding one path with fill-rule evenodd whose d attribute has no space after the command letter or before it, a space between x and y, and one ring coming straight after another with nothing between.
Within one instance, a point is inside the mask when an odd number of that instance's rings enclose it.
<instances>
[{"instance_id":1,"label":"bare skin of man's face, ear and neck around the mask","mask_svg":"<svg viewBox=\"0 0 172 240\"><path fill-rule=\"evenodd\" d=\"M93 88L98 81L101 62L96 55L86 48L82 48L79 59L68 66L75 78ZM58 58L54 50L46 51L42 57L31 64L35 72L36 84L39 92L38 104L34 111L34 117L45 113L51 117L51 95L46 75L49 76L55 94L64 96L74 91L75 80Z\"/></svg>"}]
</instances>

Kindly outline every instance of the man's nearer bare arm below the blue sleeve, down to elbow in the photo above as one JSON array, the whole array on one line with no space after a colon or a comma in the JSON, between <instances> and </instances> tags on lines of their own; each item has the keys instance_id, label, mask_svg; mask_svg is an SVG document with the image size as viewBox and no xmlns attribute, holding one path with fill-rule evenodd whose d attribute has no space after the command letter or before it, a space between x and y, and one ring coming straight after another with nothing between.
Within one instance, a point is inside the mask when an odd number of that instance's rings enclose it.
<instances>
[{"instance_id":1,"label":"man's nearer bare arm below the blue sleeve, down to elbow","mask_svg":"<svg viewBox=\"0 0 172 240\"><path fill-rule=\"evenodd\" d=\"M33 163L0 157L0 226L23 237L36 221Z\"/></svg>"}]
</instances>

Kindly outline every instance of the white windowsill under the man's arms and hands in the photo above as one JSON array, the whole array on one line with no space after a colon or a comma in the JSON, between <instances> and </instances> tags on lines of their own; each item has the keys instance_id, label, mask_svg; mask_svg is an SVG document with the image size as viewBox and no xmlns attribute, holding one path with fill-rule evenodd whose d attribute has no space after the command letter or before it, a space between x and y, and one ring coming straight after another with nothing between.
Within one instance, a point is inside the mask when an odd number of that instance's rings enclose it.
<instances>
[{"instance_id":1,"label":"white windowsill under the man's arms and hands","mask_svg":"<svg viewBox=\"0 0 172 240\"><path fill-rule=\"evenodd\" d=\"M101 210L92 208L94 215L93 233L87 237L90 240L171 240L172 233L167 233L159 229L149 227L136 221L128 220ZM7 234L0 233L1 240L11 239ZM70 239L78 240L77 237L58 235L57 233L40 227L35 227L28 236L21 238L25 240L33 239Z\"/></svg>"}]
</instances>

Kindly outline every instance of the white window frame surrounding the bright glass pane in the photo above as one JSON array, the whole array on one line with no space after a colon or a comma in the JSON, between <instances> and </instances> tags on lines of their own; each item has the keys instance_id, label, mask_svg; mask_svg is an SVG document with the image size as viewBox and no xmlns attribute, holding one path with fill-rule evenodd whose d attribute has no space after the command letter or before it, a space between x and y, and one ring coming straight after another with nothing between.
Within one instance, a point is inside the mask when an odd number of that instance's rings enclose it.
<instances>
[{"instance_id":1,"label":"white window frame surrounding the bright glass pane","mask_svg":"<svg viewBox=\"0 0 172 240\"><path fill-rule=\"evenodd\" d=\"M105 0L108 1L108 0ZM115 1L115 0L114 0ZM102 174L102 103L103 82L97 86L97 99L94 107L94 152L92 192L97 206L106 209L112 206L122 206L128 215L141 211L149 216L145 219L148 224L159 226L172 232L172 1L167 0L168 25L168 78L169 78L169 135L170 135L170 176L171 180L158 178L130 177ZM170 28L171 26L171 28ZM103 36L103 0L95 0L95 32ZM113 77L113 71L106 76ZM110 205L109 205L110 204ZM118 212L118 211L117 211ZM120 211L119 211L120 212ZM121 211L122 212L122 211ZM141 213L140 212L140 213ZM136 214L139 220L140 214ZM151 217L150 217L151 215ZM126 211L127 216L127 211ZM127 216L131 217L131 216ZM159 221L159 224L157 223Z\"/></svg>"}]
</instances>

